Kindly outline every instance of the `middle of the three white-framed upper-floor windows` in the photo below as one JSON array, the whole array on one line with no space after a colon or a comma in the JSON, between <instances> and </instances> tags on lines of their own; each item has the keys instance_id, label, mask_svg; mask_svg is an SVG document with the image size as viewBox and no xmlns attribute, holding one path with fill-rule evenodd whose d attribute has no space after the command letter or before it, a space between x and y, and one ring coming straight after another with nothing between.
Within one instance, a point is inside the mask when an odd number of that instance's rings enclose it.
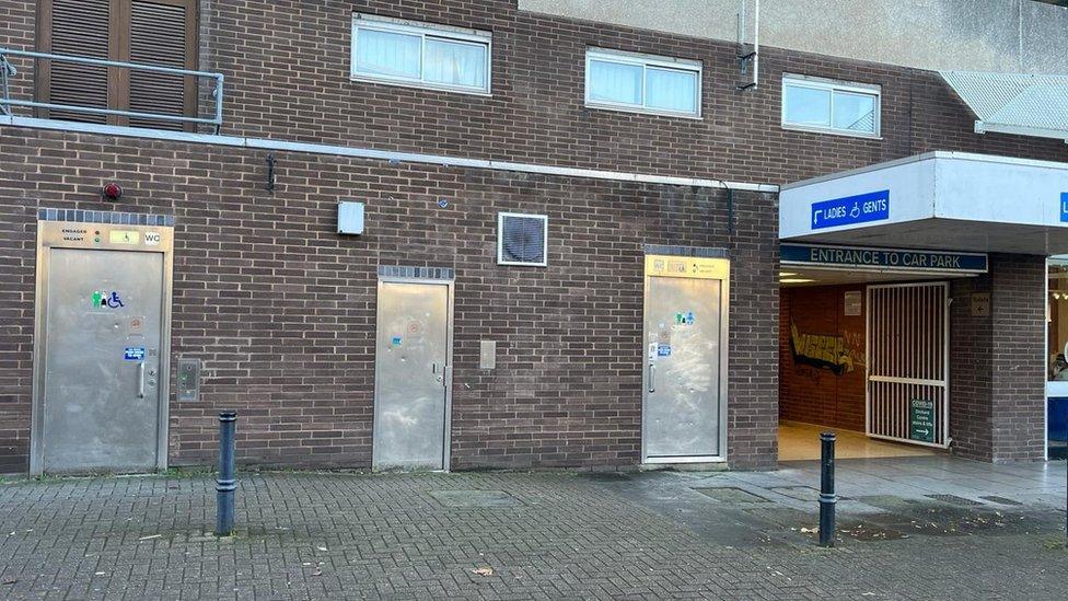
<instances>
[{"instance_id":1,"label":"middle of the three white-framed upper-floor windows","mask_svg":"<svg viewBox=\"0 0 1068 601\"><path fill-rule=\"evenodd\" d=\"M588 106L699 118L700 82L696 60L587 50Z\"/></svg>"}]
</instances>

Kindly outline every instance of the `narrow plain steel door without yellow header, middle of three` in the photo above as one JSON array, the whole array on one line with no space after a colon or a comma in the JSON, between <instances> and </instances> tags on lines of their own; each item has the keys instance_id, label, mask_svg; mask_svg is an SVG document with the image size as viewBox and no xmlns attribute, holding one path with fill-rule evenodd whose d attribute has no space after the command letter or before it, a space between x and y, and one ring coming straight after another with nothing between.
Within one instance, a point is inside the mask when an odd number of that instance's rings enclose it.
<instances>
[{"instance_id":1,"label":"narrow plain steel door without yellow header, middle of three","mask_svg":"<svg viewBox=\"0 0 1068 601\"><path fill-rule=\"evenodd\" d=\"M375 470L443 470L452 379L452 286L379 281Z\"/></svg>"}]
</instances>

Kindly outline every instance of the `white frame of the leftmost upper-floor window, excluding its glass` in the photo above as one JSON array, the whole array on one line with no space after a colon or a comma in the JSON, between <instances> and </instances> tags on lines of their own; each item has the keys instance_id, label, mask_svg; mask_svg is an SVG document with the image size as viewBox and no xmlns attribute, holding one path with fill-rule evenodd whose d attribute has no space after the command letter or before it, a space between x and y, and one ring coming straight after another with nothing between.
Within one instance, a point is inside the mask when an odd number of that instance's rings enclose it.
<instances>
[{"instance_id":1,"label":"white frame of the leftmost upper-floor window, excluding its glass","mask_svg":"<svg viewBox=\"0 0 1068 601\"><path fill-rule=\"evenodd\" d=\"M361 73L357 67L357 43L359 42L359 30L369 30L386 33L399 33L415 35L420 38L420 73L419 79L407 77L383 76L379 73ZM352 13L352 39L350 43L349 55L349 79L352 81L368 81L372 83L385 83L390 85L400 85L404 88L420 88L425 90L444 90L449 92L461 92L464 94L476 94L480 96L492 95L494 81L494 36L489 32L477 30L465 30L463 27L451 27L448 25L437 25L430 23L419 23L415 21L404 21L390 19L372 14ZM452 85L427 81L423 74L427 56L427 38L441 39L453 44L467 44L472 46L483 46L486 48L486 85Z\"/></svg>"}]
</instances>

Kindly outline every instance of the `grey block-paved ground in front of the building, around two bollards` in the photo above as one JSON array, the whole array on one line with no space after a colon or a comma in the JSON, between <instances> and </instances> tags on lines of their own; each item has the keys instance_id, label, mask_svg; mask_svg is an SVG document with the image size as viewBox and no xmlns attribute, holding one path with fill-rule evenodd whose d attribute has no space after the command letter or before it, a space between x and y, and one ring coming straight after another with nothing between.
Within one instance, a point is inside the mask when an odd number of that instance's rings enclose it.
<instances>
[{"instance_id":1,"label":"grey block-paved ground in front of the building, around two bollards","mask_svg":"<svg viewBox=\"0 0 1068 601\"><path fill-rule=\"evenodd\" d=\"M774 473L243 474L0 485L10 599L1064 599L1064 463L839 462ZM932 498L930 495L948 495Z\"/></svg>"}]
</instances>

